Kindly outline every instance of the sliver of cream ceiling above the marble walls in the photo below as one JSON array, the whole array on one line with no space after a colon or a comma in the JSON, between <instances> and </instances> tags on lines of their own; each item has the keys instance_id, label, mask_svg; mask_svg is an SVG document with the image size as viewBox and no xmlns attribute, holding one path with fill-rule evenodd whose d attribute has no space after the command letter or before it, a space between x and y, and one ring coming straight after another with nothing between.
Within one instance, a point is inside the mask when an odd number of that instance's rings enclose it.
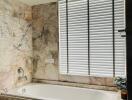
<instances>
[{"instance_id":1,"label":"sliver of cream ceiling above the marble walls","mask_svg":"<svg viewBox=\"0 0 132 100\"><path fill-rule=\"evenodd\" d=\"M39 5L49 2L56 2L57 0L20 0L20 1L27 5L33 6L33 5Z\"/></svg>"}]
</instances>

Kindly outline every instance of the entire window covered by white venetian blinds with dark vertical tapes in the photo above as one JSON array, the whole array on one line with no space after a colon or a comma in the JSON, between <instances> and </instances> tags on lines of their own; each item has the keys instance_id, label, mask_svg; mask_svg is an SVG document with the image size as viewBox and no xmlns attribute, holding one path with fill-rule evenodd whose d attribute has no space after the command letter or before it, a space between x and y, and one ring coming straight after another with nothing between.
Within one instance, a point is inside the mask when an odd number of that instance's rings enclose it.
<instances>
[{"instance_id":1,"label":"entire window covered by white venetian blinds with dark vertical tapes","mask_svg":"<svg viewBox=\"0 0 132 100\"><path fill-rule=\"evenodd\" d=\"M125 76L124 5L124 0L59 1L61 74Z\"/></svg>"}]
</instances>

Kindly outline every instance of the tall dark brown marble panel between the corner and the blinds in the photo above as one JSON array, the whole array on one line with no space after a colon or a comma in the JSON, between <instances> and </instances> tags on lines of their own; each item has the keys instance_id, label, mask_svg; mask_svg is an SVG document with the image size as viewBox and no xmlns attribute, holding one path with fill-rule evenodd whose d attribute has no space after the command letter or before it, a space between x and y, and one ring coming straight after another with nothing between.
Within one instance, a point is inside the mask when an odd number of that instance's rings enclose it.
<instances>
[{"instance_id":1,"label":"tall dark brown marble panel between the corner and the blinds","mask_svg":"<svg viewBox=\"0 0 132 100\"><path fill-rule=\"evenodd\" d=\"M33 6L34 78L58 80L57 4ZM50 62L51 60L51 62ZM53 63L52 63L52 60Z\"/></svg>"}]
</instances>

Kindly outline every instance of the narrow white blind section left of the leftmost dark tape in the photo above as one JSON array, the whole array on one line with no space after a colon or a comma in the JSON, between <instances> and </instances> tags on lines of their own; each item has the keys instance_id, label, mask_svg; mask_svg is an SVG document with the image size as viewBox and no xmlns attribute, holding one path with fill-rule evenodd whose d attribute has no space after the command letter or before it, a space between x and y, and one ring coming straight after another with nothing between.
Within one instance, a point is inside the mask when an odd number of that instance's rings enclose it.
<instances>
[{"instance_id":1,"label":"narrow white blind section left of the leftmost dark tape","mask_svg":"<svg viewBox=\"0 0 132 100\"><path fill-rule=\"evenodd\" d=\"M67 74L67 18L66 1L59 1L59 55L60 55L60 73Z\"/></svg>"}]
</instances>

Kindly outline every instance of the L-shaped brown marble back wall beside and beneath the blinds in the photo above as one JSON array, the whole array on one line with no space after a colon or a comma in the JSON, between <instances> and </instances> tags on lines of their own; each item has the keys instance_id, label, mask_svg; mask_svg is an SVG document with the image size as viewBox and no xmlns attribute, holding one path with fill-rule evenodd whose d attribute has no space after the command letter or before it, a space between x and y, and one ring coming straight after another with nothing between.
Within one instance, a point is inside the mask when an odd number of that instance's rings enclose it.
<instances>
[{"instance_id":1,"label":"L-shaped brown marble back wall beside and beneath the blinds","mask_svg":"<svg viewBox=\"0 0 132 100\"><path fill-rule=\"evenodd\" d=\"M59 75L57 3L36 5L32 9L34 79L113 86L112 78ZM52 62L53 59L54 63Z\"/></svg>"}]
</instances>

